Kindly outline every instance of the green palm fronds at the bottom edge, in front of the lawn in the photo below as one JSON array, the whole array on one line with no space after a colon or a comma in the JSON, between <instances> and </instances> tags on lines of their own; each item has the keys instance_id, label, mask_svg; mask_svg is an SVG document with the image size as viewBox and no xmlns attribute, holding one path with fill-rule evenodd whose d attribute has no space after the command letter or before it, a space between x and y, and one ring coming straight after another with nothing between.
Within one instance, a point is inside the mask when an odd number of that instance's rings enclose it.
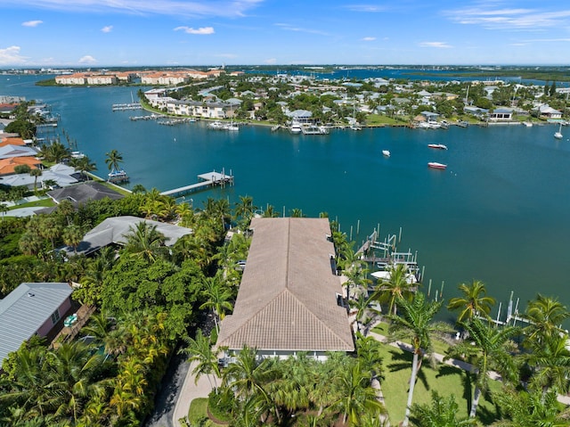
<instances>
[{"instance_id":1,"label":"green palm fronds at the bottom edge, in front of the lawn","mask_svg":"<svg viewBox=\"0 0 570 427\"><path fill-rule=\"evenodd\" d=\"M431 403L426 405L413 404L411 406L410 421L416 427L463 427L476 425L473 419L460 419L457 417L459 406L455 396L447 398L440 396L437 391L431 393Z\"/></svg>"}]
</instances>

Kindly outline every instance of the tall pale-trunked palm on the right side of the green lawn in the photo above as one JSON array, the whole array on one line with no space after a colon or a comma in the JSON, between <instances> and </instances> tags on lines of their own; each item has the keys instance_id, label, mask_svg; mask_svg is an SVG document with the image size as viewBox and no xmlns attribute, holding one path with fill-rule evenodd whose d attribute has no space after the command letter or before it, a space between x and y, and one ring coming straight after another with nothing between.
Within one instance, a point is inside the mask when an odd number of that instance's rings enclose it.
<instances>
[{"instance_id":1,"label":"tall pale-trunked palm on the right side of the green lawn","mask_svg":"<svg viewBox=\"0 0 570 427\"><path fill-rule=\"evenodd\" d=\"M471 400L469 418L475 418L481 393L489 390L489 373L498 371L503 381L513 380L517 368L511 356L517 349L511 338L517 334L518 328L504 326L495 328L473 317L469 322L461 324L468 332L468 340L449 349L449 355L466 359L475 370L475 392Z\"/></svg>"}]
</instances>

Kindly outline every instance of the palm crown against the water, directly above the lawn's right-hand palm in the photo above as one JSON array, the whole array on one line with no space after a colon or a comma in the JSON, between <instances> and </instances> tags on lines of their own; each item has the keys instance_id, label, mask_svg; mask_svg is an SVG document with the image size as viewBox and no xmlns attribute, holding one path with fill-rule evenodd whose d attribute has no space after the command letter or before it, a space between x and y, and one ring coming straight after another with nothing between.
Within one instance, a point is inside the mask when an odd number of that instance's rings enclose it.
<instances>
[{"instance_id":1,"label":"palm crown against the water, directly above the lawn's right-hand palm","mask_svg":"<svg viewBox=\"0 0 570 427\"><path fill-rule=\"evenodd\" d=\"M449 300L447 308L455 311L460 310L457 318L458 323L470 320L475 316L484 316L490 319L489 313L495 304L493 297L486 295L485 283L473 280L471 283L461 283L459 289L463 292L461 297Z\"/></svg>"}]
</instances>

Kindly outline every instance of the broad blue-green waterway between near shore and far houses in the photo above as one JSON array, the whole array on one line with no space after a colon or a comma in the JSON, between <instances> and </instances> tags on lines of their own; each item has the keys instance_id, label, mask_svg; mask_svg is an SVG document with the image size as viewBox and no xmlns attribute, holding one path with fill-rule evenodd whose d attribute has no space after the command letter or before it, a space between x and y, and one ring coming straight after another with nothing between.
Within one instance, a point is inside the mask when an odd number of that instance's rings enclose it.
<instances>
[{"instance_id":1,"label":"broad blue-green waterway between near shore and far houses","mask_svg":"<svg viewBox=\"0 0 570 427\"><path fill-rule=\"evenodd\" d=\"M131 185L161 191L192 184L200 173L225 168L236 184L191 195L251 195L289 215L327 211L353 240L398 234L399 250L418 250L432 290L444 297L472 279L487 283L503 306L511 291L521 308L536 292L558 295L570 306L570 128L562 141L554 126L338 130L330 135L272 133L241 127L238 133L205 124L160 126L129 120L141 111L112 112L128 103L131 88L33 86L33 78L0 76L0 94L41 99L61 114L61 127L106 176L105 152L122 152ZM435 151L428 144L446 144ZM390 158L382 156L390 150ZM433 170L428 161L447 163ZM357 226L360 225L360 234ZM503 308L504 310L504 308ZM504 313L504 311L503 311Z\"/></svg>"}]
</instances>

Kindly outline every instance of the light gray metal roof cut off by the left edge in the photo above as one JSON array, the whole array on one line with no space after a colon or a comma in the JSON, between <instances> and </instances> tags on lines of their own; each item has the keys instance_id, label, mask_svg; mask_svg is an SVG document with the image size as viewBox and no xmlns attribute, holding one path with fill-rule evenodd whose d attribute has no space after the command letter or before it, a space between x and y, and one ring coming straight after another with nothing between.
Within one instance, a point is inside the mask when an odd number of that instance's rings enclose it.
<instances>
[{"instance_id":1,"label":"light gray metal roof cut off by the left edge","mask_svg":"<svg viewBox=\"0 0 570 427\"><path fill-rule=\"evenodd\" d=\"M0 300L0 364L37 332L71 292L68 283L21 283Z\"/></svg>"}]
</instances>

